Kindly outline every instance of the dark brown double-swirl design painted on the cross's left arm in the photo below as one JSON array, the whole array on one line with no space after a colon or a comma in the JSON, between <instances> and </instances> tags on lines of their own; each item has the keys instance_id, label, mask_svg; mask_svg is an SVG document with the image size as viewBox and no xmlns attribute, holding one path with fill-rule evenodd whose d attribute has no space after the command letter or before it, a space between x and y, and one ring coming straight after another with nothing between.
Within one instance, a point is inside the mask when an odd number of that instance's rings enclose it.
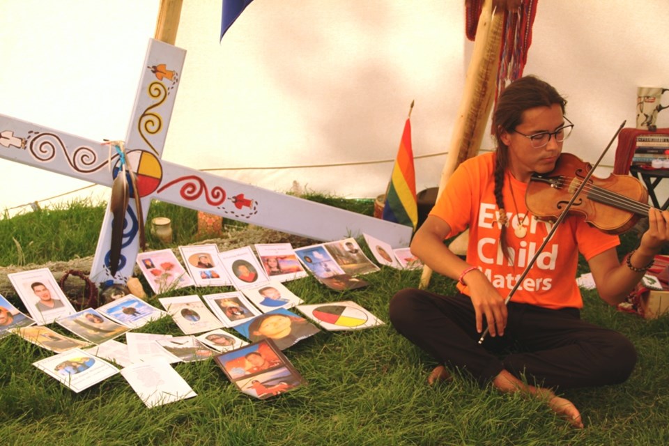
<instances>
[{"instance_id":1,"label":"dark brown double-swirl design painted on the cross's left arm","mask_svg":"<svg viewBox=\"0 0 669 446\"><path fill-rule=\"evenodd\" d=\"M53 160L59 150L65 155L70 167L82 174L91 174L92 172L98 171L102 169L102 167L107 166L110 161L113 161L118 157L118 155L112 156L111 159L105 157L104 160L100 162L100 160L98 160L98 153L89 146L79 146L75 148L70 155L63 140L57 134L49 132L37 134L30 141L30 153L33 157L42 162Z\"/></svg>"}]
</instances>

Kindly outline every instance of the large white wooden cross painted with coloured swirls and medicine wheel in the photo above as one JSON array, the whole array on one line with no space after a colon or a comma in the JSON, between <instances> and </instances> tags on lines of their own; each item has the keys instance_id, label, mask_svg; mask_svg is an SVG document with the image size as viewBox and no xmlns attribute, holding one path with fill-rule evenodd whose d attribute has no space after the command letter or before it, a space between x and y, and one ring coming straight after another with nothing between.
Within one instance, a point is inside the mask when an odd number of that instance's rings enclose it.
<instances>
[{"instance_id":1,"label":"large white wooden cross painted with coloured swirls and medicine wheel","mask_svg":"<svg viewBox=\"0 0 669 446\"><path fill-rule=\"evenodd\" d=\"M137 174L144 218L152 199L316 240L369 233L394 247L408 246L412 229L347 210L228 180L161 160L185 50L151 39L142 67L125 152ZM202 144L193 141L193 144ZM188 150L187 147L181 150ZM0 157L111 186L119 156L84 139L0 114ZM139 252L139 221L130 200L118 271L109 271L112 215L107 209L91 266L91 280L125 283Z\"/></svg>"}]
</instances>

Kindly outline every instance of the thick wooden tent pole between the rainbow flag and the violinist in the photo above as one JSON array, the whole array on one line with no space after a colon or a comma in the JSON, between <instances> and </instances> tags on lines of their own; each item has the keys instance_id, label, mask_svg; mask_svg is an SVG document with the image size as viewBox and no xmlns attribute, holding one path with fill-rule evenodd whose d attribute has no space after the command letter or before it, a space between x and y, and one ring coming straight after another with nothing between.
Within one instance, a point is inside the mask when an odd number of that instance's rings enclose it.
<instances>
[{"instance_id":1,"label":"thick wooden tent pole between the rainbow flag and the violinist","mask_svg":"<svg viewBox=\"0 0 669 446\"><path fill-rule=\"evenodd\" d=\"M479 17L474 52L467 69L465 89L446 164L441 171L437 199L458 164L476 155L486 132L486 123L495 98L504 22L504 11L495 10L493 14L492 4L493 0L486 0ZM431 268L424 266L420 277L421 289L429 285L431 275Z\"/></svg>"}]
</instances>

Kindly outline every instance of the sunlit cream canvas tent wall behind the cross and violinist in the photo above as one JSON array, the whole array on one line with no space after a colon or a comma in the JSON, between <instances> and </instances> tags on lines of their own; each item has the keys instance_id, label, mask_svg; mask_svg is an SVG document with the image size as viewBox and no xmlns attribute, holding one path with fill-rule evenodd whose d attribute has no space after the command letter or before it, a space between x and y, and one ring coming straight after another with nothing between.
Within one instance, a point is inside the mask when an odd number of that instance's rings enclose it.
<instances>
[{"instance_id":1,"label":"sunlit cream canvas tent wall behind the cross and violinist","mask_svg":"<svg viewBox=\"0 0 669 446\"><path fill-rule=\"evenodd\" d=\"M0 113L123 139L158 3L3 1ZM669 87L669 3L607 5L540 0L525 67L567 95L576 123L567 150L593 162L623 120L635 125L637 86ZM472 51L463 1L255 0L221 41L220 9L184 1L176 45L187 56L164 160L270 190L297 182L372 198L385 191L415 100L417 190L438 185ZM658 124L669 127L669 112ZM615 145L601 174L614 158ZM0 167L2 208L88 185ZM78 195L91 194L109 190Z\"/></svg>"}]
</instances>

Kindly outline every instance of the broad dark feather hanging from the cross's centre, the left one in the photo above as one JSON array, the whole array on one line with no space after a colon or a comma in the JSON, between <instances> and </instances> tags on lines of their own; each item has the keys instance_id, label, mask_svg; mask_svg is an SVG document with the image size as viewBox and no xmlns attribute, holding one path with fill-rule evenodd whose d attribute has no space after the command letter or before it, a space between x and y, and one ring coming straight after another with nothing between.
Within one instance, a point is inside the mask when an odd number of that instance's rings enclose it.
<instances>
[{"instance_id":1,"label":"broad dark feather hanging from the cross's centre, the left one","mask_svg":"<svg viewBox=\"0 0 669 446\"><path fill-rule=\"evenodd\" d=\"M109 210L112 212L112 243L109 247L109 272L112 276L118 271L118 263L121 261L121 248L123 247L123 226L125 224L125 210L128 209L130 201L130 189L128 178L126 178L125 153L116 146L119 151L121 169L118 170L114 183L112 183L112 198L109 199Z\"/></svg>"}]
</instances>

